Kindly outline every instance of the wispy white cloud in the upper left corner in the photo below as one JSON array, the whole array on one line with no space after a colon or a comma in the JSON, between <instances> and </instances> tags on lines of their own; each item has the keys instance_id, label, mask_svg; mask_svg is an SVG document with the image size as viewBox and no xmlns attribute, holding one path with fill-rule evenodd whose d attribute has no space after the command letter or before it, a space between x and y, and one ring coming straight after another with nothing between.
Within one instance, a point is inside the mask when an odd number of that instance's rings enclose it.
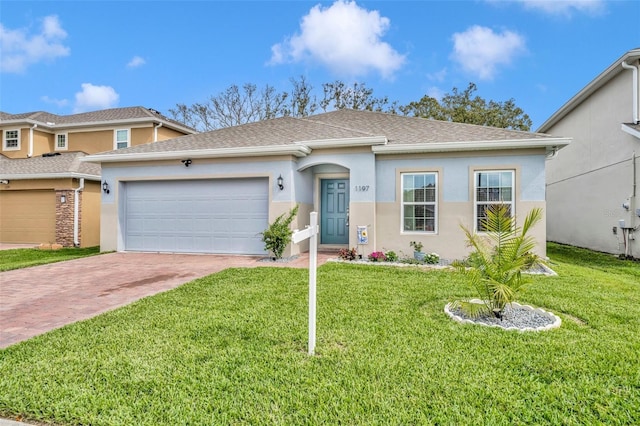
<instances>
[{"instance_id":1,"label":"wispy white cloud in the upper left corner","mask_svg":"<svg viewBox=\"0 0 640 426\"><path fill-rule=\"evenodd\" d=\"M0 71L21 73L29 65L68 56L71 49L63 44L65 38L67 32L55 15L42 20L38 33L24 28L12 30L0 24Z\"/></svg>"}]
</instances>

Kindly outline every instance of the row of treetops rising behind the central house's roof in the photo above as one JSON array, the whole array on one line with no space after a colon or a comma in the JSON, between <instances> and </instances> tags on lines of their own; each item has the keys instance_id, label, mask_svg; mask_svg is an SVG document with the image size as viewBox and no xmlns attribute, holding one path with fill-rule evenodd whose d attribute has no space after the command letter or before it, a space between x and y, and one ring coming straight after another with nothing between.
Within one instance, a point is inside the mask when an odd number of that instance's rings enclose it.
<instances>
[{"instance_id":1,"label":"row of treetops rising behind the central house's roof","mask_svg":"<svg viewBox=\"0 0 640 426\"><path fill-rule=\"evenodd\" d=\"M454 87L452 93L446 94L441 100L425 95L419 101L399 105L396 101L389 102L387 96L375 97L373 89L365 83L346 84L340 80L324 83L322 100L318 102L313 86L304 76L289 81L292 86L290 92L278 92L268 84L260 90L251 83L242 87L234 84L218 95L211 96L206 103L194 103L191 106L177 104L169 112L173 119L200 131L276 117L307 117L318 109L333 111L346 108L507 129L531 128L531 119L513 99L487 102L474 96L477 90L474 83L469 83L464 91Z\"/></svg>"}]
</instances>

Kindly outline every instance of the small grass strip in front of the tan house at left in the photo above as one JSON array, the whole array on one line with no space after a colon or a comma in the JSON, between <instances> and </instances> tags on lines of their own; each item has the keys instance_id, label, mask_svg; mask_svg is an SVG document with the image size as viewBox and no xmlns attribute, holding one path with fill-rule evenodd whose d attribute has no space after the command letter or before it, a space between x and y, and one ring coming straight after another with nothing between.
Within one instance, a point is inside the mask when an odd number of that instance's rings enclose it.
<instances>
[{"instance_id":1,"label":"small grass strip in front of the tan house at left","mask_svg":"<svg viewBox=\"0 0 640 426\"><path fill-rule=\"evenodd\" d=\"M64 260L93 256L100 247L62 248L60 250L11 249L0 251L0 271L28 268L29 266L62 262Z\"/></svg>"}]
</instances>

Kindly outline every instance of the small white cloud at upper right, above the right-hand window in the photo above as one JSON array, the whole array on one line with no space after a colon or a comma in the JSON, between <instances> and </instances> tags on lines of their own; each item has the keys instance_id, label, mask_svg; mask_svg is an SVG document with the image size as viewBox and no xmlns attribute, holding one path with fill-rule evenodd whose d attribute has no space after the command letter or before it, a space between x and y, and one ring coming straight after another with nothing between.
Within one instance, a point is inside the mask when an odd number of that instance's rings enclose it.
<instances>
[{"instance_id":1,"label":"small white cloud at upper right, above the right-hand window","mask_svg":"<svg viewBox=\"0 0 640 426\"><path fill-rule=\"evenodd\" d=\"M523 53L525 40L511 31L495 33L492 29L474 25L453 35L451 58L481 80L492 79L498 67L508 65Z\"/></svg>"}]
</instances>

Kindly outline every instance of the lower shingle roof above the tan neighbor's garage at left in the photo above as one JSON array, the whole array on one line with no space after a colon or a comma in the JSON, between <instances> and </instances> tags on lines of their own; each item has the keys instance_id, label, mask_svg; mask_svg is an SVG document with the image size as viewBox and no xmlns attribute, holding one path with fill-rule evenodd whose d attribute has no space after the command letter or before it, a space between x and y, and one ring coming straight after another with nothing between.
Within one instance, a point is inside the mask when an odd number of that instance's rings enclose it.
<instances>
[{"instance_id":1,"label":"lower shingle roof above the tan neighbor's garage at left","mask_svg":"<svg viewBox=\"0 0 640 426\"><path fill-rule=\"evenodd\" d=\"M20 176L35 179L35 175L86 175L100 177L100 166L80 161L86 156L84 152L65 152L60 155L38 156L31 158L7 158L0 155L0 177L3 179L19 179Z\"/></svg>"}]
</instances>

